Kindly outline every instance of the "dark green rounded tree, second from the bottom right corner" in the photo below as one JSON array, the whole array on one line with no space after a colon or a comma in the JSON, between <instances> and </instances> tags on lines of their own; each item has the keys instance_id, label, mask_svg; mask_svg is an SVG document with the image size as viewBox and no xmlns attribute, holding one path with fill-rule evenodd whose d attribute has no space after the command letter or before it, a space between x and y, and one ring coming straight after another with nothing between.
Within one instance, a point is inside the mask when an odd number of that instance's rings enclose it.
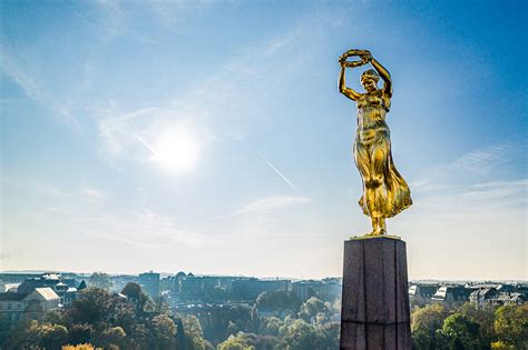
<instances>
[{"instance_id":1,"label":"dark green rounded tree, second from the bottom right corner","mask_svg":"<svg viewBox=\"0 0 528 350\"><path fill-rule=\"evenodd\" d=\"M443 321L439 331L441 349L478 350L480 349L480 326L466 316L456 312Z\"/></svg>"}]
</instances>

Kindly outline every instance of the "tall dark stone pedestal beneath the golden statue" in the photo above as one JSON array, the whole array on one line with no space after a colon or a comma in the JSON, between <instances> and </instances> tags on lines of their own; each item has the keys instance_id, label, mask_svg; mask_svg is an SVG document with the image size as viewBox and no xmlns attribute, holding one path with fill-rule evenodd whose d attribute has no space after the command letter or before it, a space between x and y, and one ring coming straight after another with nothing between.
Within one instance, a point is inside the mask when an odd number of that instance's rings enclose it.
<instances>
[{"instance_id":1,"label":"tall dark stone pedestal beneath the golden statue","mask_svg":"<svg viewBox=\"0 0 528 350\"><path fill-rule=\"evenodd\" d=\"M340 348L411 349L405 242L351 239L343 260Z\"/></svg>"}]
</instances>

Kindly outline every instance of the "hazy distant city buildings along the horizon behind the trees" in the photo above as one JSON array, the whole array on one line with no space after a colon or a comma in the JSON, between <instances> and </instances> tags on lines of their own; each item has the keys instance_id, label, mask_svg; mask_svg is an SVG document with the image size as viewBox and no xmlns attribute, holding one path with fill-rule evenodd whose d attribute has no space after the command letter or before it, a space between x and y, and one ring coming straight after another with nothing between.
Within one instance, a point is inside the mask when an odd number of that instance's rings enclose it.
<instances>
[{"instance_id":1,"label":"hazy distant city buildings along the horizon behind the trees","mask_svg":"<svg viewBox=\"0 0 528 350\"><path fill-rule=\"evenodd\" d=\"M2 272L0 273L0 317L11 327L19 321L38 319L41 311L68 309L77 294L88 287L107 288L120 294L127 283L137 283L157 302L165 303L179 314L192 314L201 319L209 309L228 308L234 304L252 306L265 292L293 293L300 302L312 297L325 302L341 298L341 278L322 280L258 279L254 277L195 276L192 272L162 276L148 271L134 274L94 274L71 272ZM456 308L467 302L475 307L522 304L528 300L528 283L482 281L411 281L409 283L411 307L441 303ZM40 311L40 312L37 312ZM258 310L265 316L284 318L290 311ZM339 322L339 309L330 317ZM206 320L201 320L206 321Z\"/></svg>"}]
</instances>

